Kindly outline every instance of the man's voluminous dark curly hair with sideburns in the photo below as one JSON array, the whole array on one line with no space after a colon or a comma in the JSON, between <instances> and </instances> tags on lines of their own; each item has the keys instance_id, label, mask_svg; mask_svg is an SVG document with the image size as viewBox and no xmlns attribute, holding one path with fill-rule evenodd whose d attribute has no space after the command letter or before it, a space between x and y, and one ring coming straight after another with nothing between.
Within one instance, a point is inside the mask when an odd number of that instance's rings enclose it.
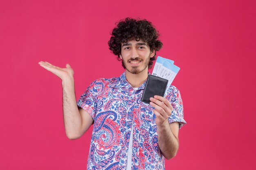
<instances>
[{"instance_id":1,"label":"man's voluminous dark curly hair with sideburns","mask_svg":"<svg viewBox=\"0 0 256 170\"><path fill-rule=\"evenodd\" d=\"M111 35L112 36L108 41L108 46L112 53L118 55L117 60L119 61L121 60L121 43L134 39L139 41L141 39L148 43L150 51L159 51L163 46L163 43L157 40L159 37L158 31L153 27L152 23L146 19L135 20L132 18L125 18L125 20L120 20L117 26L113 29ZM150 58L148 68L152 67L155 55Z\"/></svg>"}]
</instances>

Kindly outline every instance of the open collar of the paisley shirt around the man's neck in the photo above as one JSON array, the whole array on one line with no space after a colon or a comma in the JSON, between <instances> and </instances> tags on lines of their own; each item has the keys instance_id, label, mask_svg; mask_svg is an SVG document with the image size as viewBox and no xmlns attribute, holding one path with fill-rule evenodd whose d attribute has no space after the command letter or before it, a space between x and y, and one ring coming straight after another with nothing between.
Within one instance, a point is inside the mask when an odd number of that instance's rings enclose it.
<instances>
[{"instance_id":1,"label":"open collar of the paisley shirt around the man's neck","mask_svg":"<svg viewBox=\"0 0 256 170\"><path fill-rule=\"evenodd\" d=\"M148 72L148 75L150 75L149 72ZM141 84L141 86L139 86L138 90L145 88L147 79L143 84ZM126 72L122 73L120 77L115 77L110 79L109 86L113 88L132 88L132 85L130 85L130 83L126 79Z\"/></svg>"}]
</instances>

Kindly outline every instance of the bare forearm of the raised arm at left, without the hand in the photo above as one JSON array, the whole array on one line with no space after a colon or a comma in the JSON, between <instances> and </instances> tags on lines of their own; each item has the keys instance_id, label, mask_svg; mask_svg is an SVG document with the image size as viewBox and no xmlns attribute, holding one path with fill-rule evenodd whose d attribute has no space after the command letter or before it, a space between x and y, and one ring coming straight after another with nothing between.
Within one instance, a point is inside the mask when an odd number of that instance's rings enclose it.
<instances>
[{"instance_id":1,"label":"bare forearm of the raised arm at left, without the hand","mask_svg":"<svg viewBox=\"0 0 256 170\"><path fill-rule=\"evenodd\" d=\"M64 79L62 88L63 119L66 135L69 139L76 139L80 137L82 120L76 105L74 78Z\"/></svg>"}]
</instances>

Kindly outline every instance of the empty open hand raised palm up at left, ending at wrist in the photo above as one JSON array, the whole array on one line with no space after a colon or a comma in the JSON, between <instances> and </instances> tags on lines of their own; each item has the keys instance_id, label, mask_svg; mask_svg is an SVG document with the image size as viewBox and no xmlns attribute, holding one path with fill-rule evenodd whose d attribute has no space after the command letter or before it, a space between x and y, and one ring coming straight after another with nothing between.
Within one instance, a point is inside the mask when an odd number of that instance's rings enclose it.
<instances>
[{"instance_id":1,"label":"empty open hand raised palm up at left, ending at wrist","mask_svg":"<svg viewBox=\"0 0 256 170\"><path fill-rule=\"evenodd\" d=\"M69 64L66 64L66 68L60 68L60 67L54 66L49 62L41 61L38 64L43 68L45 68L46 70L57 75L61 80L64 80L66 78L73 78L74 76L74 71Z\"/></svg>"}]
</instances>

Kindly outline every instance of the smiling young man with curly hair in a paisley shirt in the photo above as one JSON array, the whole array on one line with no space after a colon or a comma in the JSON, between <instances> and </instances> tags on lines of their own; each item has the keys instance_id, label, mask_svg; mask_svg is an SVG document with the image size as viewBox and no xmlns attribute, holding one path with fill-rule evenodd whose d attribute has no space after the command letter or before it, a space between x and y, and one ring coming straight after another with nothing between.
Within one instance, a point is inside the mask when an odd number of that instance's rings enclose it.
<instances>
[{"instance_id":1,"label":"smiling young man with curly hair in a paisley shirt","mask_svg":"<svg viewBox=\"0 0 256 170\"><path fill-rule=\"evenodd\" d=\"M180 92L171 86L165 97L141 102L148 68L162 47L157 38L147 20L120 21L108 44L126 71L120 77L95 80L77 103L70 65L59 68L39 62L62 79L67 137L78 139L94 124L88 170L162 170L164 158L176 155L178 130L186 124Z\"/></svg>"}]
</instances>

